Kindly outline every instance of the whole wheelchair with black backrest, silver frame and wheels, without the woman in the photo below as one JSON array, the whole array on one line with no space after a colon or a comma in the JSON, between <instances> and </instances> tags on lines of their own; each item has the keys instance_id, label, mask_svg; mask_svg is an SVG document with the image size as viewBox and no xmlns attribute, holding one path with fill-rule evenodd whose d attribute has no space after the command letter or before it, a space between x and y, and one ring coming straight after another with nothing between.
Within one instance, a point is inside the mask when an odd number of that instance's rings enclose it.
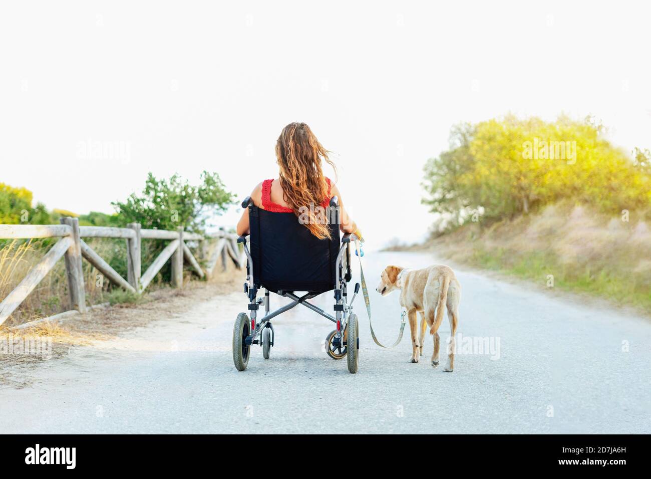
<instances>
[{"instance_id":1,"label":"whole wheelchair with black backrest, silver frame and wheels, without the woman","mask_svg":"<svg viewBox=\"0 0 651 479\"><path fill-rule=\"evenodd\" d=\"M336 328L326 337L326 353L333 359L347 358L348 371L356 373L359 364L359 323L353 313L353 301L359 283L348 301L350 246L357 238L352 233L340 236L340 208L333 196L326 208L330 227L329 239L318 239L300 224L293 213L272 212L253 204L251 197L242 202L249 209L249 235L242 235L247 256L244 293L249 300L248 312L238 314L233 327L233 362L238 371L249 364L253 345L262 347L262 357L269 359L275 343L271 319L301 304L326 317ZM248 241L247 241L248 239ZM264 297L257 298L264 289ZM303 293L297 295L296 292ZM334 315L322 310L310 299L333 291ZM270 292L290 298L292 302L270 312ZM264 306L264 315L258 310Z\"/></svg>"}]
</instances>

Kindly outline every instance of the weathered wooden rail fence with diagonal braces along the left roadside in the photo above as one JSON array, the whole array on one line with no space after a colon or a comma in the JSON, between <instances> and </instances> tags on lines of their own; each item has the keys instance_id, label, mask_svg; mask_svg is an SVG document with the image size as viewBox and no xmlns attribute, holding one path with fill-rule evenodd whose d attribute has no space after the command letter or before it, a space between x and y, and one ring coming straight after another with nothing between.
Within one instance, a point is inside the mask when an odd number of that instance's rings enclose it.
<instances>
[{"instance_id":1,"label":"weathered wooden rail fence with diagonal braces along the left roadside","mask_svg":"<svg viewBox=\"0 0 651 479\"><path fill-rule=\"evenodd\" d=\"M60 238L44 255L38 264L32 267L25 278L0 302L0 325L13 313L21 302L27 298L36 285L45 278L55 263L64 257L70 304L73 310L62 313L85 313L87 311L81 259L85 258L91 265L113 284L141 294L156 277L163 265L171 258L172 285L183 287L184 260L191 270L199 276L210 278L220 262L226 268L228 257L236 267L242 269L246 257L240 253L237 235L219 232L214 235L187 233L179 228L177 231L165 229L143 229L138 223L130 223L126 228L104 226L79 226L77 218L61 218L60 225L3 225L0 224L0 239L41 239ZM82 238L118 238L127 242L127 278L122 278L109 263L104 261ZM141 242L143 239L169 240L169 244L160 252L154 262L141 274ZM199 251L207 257L203 269L199 261L188 248L186 241L199 242ZM212 243L212 244L210 244Z\"/></svg>"}]
</instances>

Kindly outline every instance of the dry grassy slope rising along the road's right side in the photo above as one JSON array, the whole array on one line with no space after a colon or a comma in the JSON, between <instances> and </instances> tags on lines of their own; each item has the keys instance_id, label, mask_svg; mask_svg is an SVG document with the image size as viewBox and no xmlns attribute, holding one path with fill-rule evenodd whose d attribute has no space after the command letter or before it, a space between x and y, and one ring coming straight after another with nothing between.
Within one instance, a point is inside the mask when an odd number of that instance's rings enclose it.
<instances>
[{"instance_id":1,"label":"dry grassy slope rising along the road's right side","mask_svg":"<svg viewBox=\"0 0 651 479\"><path fill-rule=\"evenodd\" d=\"M651 313L651 231L643 221L608 218L589 207L551 205L491 226L467 224L437 239L452 261L548 286L609 298Z\"/></svg>"}]
</instances>

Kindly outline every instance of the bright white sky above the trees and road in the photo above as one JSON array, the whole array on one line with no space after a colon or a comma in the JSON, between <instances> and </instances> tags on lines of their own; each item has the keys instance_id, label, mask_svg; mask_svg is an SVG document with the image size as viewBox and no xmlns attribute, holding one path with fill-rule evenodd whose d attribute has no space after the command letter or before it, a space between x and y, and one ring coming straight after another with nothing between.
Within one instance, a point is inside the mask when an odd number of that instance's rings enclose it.
<instances>
[{"instance_id":1,"label":"bright white sky above the trees and road","mask_svg":"<svg viewBox=\"0 0 651 479\"><path fill-rule=\"evenodd\" d=\"M49 209L113 212L149 171L243 199L303 121L377 248L428 234L422 167L456 123L594 115L651 148L643 2L0 5L0 182Z\"/></svg>"}]
</instances>

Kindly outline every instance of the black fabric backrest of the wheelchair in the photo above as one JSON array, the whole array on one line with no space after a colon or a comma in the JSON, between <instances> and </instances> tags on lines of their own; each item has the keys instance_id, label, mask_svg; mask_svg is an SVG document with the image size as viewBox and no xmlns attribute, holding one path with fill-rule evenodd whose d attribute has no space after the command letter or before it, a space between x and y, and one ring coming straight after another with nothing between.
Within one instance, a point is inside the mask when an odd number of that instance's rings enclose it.
<instances>
[{"instance_id":1,"label":"black fabric backrest of the wheelchair","mask_svg":"<svg viewBox=\"0 0 651 479\"><path fill-rule=\"evenodd\" d=\"M249 205L249 244L256 287L278 291L323 293L335 289L339 225L330 225L330 239L320 240L293 213Z\"/></svg>"}]
</instances>

